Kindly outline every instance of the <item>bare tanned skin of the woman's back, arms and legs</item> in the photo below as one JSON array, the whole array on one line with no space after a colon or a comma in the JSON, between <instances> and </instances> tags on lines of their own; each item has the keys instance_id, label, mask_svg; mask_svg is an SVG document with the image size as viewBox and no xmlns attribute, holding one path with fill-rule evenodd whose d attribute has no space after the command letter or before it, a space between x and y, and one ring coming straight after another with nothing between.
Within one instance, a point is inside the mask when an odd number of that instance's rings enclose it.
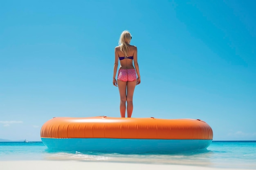
<instances>
[{"instance_id":1,"label":"bare tanned skin of the woman's back, arms and legs","mask_svg":"<svg viewBox=\"0 0 256 170\"><path fill-rule=\"evenodd\" d=\"M137 47L130 45L130 42L128 42L128 46L129 46L128 56L133 56L133 60L128 59L128 58L121 60L119 69L135 69L137 72L138 78L137 78L137 80L135 80L133 82L122 82L119 79L116 80L115 77L117 74L119 57L124 57L124 53L120 50L120 46L115 47L115 64L114 64L113 85L117 86L117 84L118 84L119 93L120 93L121 117L125 117L126 102L127 102L127 117L132 116L133 93L134 93L135 86L140 84L139 65L137 62ZM132 62L134 62L134 66L133 66Z\"/></svg>"}]
</instances>

